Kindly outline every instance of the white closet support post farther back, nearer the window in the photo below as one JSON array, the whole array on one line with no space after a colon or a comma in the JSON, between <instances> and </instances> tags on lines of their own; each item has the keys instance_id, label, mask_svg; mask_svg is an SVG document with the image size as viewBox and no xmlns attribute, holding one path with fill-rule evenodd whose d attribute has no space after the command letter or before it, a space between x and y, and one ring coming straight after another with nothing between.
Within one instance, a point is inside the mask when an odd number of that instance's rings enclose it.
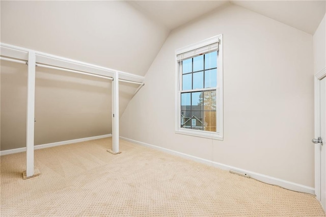
<instances>
[{"instance_id":1,"label":"white closet support post farther back, nearer the window","mask_svg":"<svg viewBox=\"0 0 326 217\"><path fill-rule=\"evenodd\" d=\"M107 150L112 154L119 152L119 72L115 72L112 82L112 150Z\"/></svg>"}]
</instances>

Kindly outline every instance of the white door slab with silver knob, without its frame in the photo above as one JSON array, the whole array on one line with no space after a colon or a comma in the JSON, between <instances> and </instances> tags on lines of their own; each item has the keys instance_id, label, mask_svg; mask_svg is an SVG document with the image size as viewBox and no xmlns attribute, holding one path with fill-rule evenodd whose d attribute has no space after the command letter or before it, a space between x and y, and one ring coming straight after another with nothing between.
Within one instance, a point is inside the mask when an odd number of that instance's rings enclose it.
<instances>
[{"instance_id":1,"label":"white door slab with silver knob, without its frame","mask_svg":"<svg viewBox=\"0 0 326 217\"><path fill-rule=\"evenodd\" d=\"M320 137L320 203L326 211L326 77L320 80Z\"/></svg>"}]
</instances>

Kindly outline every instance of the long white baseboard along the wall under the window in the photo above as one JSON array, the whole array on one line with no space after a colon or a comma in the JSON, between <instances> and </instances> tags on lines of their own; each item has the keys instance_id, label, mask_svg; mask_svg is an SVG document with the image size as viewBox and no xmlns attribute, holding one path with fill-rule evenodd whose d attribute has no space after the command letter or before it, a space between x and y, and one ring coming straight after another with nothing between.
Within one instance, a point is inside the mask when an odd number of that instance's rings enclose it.
<instances>
[{"instance_id":1,"label":"long white baseboard along the wall under the window","mask_svg":"<svg viewBox=\"0 0 326 217\"><path fill-rule=\"evenodd\" d=\"M164 151L164 152L167 152L169 154L181 156L183 158L191 159L191 160L194 160L194 161L197 161L197 162L201 162L203 164L213 166L213 167L216 167L216 168L220 168L222 170L227 170L227 171L234 170L234 171L238 171L240 173L248 174L248 175L250 175L251 178L257 179L257 180L259 180L261 182L265 182L265 183L273 184L273 185L278 185L280 187L289 189L291 191L303 192L303 193L308 193L308 194L312 194L312 195L315 194L315 188L309 187L309 186L306 186L306 185L286 181L286 180L271 177L271 176L266 176L266 175L263 175L263 174L251 172L251 171L248 171L248 170L243 170L243 169L232 167L232 166L225 165L225 164L220 164L219 162L214 162L214 161L211 161L211 160L203 159L203 158L192 156L192 155L189 155L189 154L184 154L184 153L181 153L181 152L178 152L178 151L173 151L173 150L170 150L170 149L167 149L167 148L162 148L162 147L159 147L159 146L143 143L143 142L140 142L140 141L131 140L131 139L128 139L128 138L125 138L125 137L120 137L120 139L131 142L131 143L139 144L139 145L142 145L142 146L146 146L146 147L149 147L149 148Z\"/></svg>"}]
</instances>

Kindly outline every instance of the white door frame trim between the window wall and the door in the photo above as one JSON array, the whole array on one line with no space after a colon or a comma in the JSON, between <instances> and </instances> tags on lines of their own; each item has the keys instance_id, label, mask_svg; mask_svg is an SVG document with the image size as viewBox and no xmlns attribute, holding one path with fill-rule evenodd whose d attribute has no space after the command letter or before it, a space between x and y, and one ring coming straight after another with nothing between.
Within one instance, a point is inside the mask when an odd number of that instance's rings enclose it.
<instances>
[{"instance_id":1,"label":"white door frame trim between the window wall and the door","mask_svg":"<svg viewBox=\"0 0 326 217\"><path fill-rule=\"evenodd\" d=\"M315 74L315 138L320 137L320 80L326 77L326 67ZM320 201L320 145L315 144L315 195Z\"/></svg>"}]
</instances>

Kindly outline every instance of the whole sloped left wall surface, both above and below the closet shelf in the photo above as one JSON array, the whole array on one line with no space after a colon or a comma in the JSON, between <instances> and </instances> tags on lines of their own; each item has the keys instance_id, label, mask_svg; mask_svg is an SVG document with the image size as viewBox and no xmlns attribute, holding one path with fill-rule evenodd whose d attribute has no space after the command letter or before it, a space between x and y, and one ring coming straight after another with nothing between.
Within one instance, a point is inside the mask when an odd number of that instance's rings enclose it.
<instances>
[{"instance_id":1,"label":"whole sloped left wall surface, both above and below the closet shelf","mask_svg":"<svg viewBox=\"0 0 326 217\"><path fill-rule=\"evenodd\" d=\"M2 43L139 75L169 33L126 2L2 1L0 14ZM25 147L26 71L1 62L0 150ZM120 114L137 88L120 84ZM111 92L100 78L37 68L35 144L111 133Z\"/></svg>"}]
</instances>

